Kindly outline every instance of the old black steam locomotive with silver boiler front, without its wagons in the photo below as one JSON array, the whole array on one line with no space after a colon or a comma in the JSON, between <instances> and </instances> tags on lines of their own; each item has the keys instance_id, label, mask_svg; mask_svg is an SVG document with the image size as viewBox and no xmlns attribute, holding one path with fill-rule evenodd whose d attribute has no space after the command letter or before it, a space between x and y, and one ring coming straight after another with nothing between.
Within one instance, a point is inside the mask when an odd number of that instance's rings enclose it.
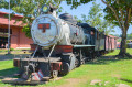
<instances>
[{"instance_id":1,"label":"old black steam locomotive with silver boiler front, without its wagons","mask_svg":"<svg viewBox=\"0 0 132 87\"><path fill-rule=\"evenodd\" d=\"M106 52L103 32L87 23L78 23L68 13L57 17L56 8L52 6L43 6L41 12L31 28L36 44L34 53L29 58L14 58L21 79L50 80Z\"/></svg>"}]
</instances>

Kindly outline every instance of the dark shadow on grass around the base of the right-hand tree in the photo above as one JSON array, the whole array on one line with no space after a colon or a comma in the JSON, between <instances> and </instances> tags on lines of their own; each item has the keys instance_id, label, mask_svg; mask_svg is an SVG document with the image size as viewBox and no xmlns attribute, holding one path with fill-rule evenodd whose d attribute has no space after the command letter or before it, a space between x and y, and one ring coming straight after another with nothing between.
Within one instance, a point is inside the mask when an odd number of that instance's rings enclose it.
<instances>
[{"instance_id":1,"label":"dark shadow on grass around the base of the right-hand tree","mask_svg":"<svg viewBox=\"0 0 132 87\"><path fill-rule=\"evenodd\" d=\"M114 63L118 61L123 61L123 59L132 59L132 58L118 58L117 56L101 56L99 58L95 58L91 62L88 62L86 64L94 64L94 65L105 65L105 64L110 64L110 63Z\"/></svg>"}]
</instances>

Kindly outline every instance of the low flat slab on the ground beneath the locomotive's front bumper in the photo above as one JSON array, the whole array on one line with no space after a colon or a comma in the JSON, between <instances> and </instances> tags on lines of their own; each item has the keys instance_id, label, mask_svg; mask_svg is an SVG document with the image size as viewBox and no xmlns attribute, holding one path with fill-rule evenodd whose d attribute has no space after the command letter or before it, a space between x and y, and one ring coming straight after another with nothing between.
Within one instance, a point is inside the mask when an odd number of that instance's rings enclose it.
<instances>
[{"instance_id":1,"label":"low flat slab on the ground beneath the locomotive's front bumper","mask_svg":"<svg viewBox=\"0 0 132 87\"><path fill-rule=\"evenodd\" d=\"M29 81L22 78L4 78L2 79L4 84L15 84L15 85L37 85L37 84L47 84L48 81Z\"/></svg>"}]
</instances>

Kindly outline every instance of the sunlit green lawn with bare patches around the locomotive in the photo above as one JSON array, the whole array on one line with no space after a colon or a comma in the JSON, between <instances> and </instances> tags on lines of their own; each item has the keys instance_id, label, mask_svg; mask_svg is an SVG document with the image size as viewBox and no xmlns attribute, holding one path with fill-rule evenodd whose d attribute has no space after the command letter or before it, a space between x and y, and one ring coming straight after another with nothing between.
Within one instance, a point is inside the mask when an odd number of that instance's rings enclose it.
<instances>
[{"instance_id":1,"label":"sunlit green lawn with bare patches around the locomotive","mask_svg":"<svg viewBox=\"0 0 132 87\"><path fill-rule=\"evenodd\" d=\"M128 52L132 54L132 50L128 50ZM119 59L111 57L111 55L117 55L118 53L119 50L81 65L59 80L52 80L46 85L36 87L114 87L116 84L127 84L132 87L132 58ZM0 62L0 77L16 72L12 64L12 61ZM91 86L90 81L94 79L102 80L102 86ZM109 83L105 86L105 81ZM0 83L0 87L14 86Z\"/></svg>"}]
</instances>

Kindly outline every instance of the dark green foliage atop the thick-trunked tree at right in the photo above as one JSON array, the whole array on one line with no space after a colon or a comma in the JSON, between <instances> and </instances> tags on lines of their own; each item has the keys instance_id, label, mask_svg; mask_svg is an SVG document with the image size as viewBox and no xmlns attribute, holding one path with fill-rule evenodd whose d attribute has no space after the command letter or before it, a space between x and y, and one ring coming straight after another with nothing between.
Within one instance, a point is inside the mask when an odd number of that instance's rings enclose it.
<instances>
[{"instance_id":1,"label":"dark green foliage atop the thick-trunked tree at right","mask_svg":"<svg viewBox=\"0 0 132 87\"><path fill-rule=\"evenodd\" d=\"M132 23L132 15L130 15L132 13L130 12L132 9L132 0L106 0L106 2L112 7L114 11L112 11L109 7L106 7L103 10L107 13L105 18L113 21L113 23L120 28L123 28L125 24L128 29Z\"/></svg>"}]
</instances>

